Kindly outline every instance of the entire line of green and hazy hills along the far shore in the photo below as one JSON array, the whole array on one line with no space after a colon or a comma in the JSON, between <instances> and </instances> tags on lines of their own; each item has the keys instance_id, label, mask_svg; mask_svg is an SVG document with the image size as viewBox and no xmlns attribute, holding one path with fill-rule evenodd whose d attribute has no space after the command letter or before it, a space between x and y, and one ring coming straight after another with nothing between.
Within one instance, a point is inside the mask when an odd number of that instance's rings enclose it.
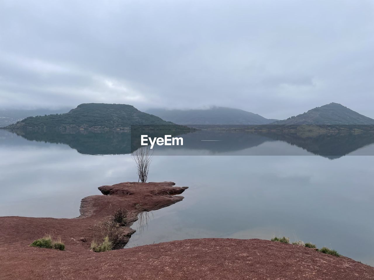
<instances>
[{"instance_id":1,"label":"entire line of green and hazy hills along the far shore","mask_svg":"<svg viewBox=\"0 0 374 280\"><path fill-rule=\"evenodd\" d=\"M31 116L5 128L122 130L144 124L174 125L168 129L180 130L183 129L180 125L374 125L374 119L334 102L275 121L241 109L217 106L189 110L148 109L142 112L126 104L82 103L67 113Z\"/></svg>"}]
</instances>

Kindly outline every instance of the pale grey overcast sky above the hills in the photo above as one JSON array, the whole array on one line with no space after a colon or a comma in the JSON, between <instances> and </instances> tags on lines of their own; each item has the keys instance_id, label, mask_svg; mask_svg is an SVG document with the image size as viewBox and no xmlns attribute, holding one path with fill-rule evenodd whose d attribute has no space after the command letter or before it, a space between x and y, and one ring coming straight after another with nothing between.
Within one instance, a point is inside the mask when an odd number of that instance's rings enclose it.
<instances>
[{"instance_id":1,"label":"pale grey overcast sky above the hills","mask_svg":"<svg viewBox=\"0 0 374 280\"><path fill-rule=\"evenodd\" d=\"M374 118L374 1L0 0L0 108L125 103Z\"/></svg>"}]
</instances>

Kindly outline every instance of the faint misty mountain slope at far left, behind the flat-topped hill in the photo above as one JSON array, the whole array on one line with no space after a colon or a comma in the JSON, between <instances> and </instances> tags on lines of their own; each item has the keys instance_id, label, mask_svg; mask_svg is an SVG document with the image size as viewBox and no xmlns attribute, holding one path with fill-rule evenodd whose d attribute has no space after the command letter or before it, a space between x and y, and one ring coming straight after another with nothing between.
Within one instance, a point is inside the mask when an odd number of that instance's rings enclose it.
<instances>
[{"instance_id":1,"label":"faint misty mountain slope at far left, behind the flat-topped hill","mask_svg":"<svg viewBox=\"0 0 374 280\"><path fill-rule=\"evenodd\" d=\"M0 127L6 127L7 125L14 124L17 121L21 121L24 118L29 116L44 116L50 114L61 114L66 113L70 109L33 109L33 110L24 110L24 109L3 109L0 110Z\"/></svg>"}]
</instances>

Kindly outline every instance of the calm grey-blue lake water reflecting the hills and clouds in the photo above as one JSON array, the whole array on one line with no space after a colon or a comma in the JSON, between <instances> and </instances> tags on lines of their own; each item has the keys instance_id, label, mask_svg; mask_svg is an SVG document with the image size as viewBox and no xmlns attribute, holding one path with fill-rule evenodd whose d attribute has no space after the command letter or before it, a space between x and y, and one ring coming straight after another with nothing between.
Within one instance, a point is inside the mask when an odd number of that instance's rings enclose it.
<instances>
[{"instance_id":1,"label":"calm grey-blue lake water reflecting the hills and clouds","mask_svg":"<svg viewBox=\"0 0 374 280\"><path fill-rule=\"evenodd\" d=\"M149 180L189 189L183 201L142 214L128 247L288 236L374 265L373 136L194 135L183 150L155 151ZM97 187L137 181L127 137L0 130L0 216L77 217ZM198 143L204 137L222 141Z\"/></svg>"}]
</instances>

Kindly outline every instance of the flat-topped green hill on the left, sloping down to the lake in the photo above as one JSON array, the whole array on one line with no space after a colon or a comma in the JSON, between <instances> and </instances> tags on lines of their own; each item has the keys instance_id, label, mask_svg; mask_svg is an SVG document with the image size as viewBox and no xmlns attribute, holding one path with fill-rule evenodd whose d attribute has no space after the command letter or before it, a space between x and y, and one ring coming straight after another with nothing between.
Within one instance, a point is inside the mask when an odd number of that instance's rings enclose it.
<instances>
[{"instance_id":1,"label":"flat-topped green hill on the left, sloping down to the lake","mask_svg":"<svg viewBox=\"0 0 374 280\"><path fill-rule=\"evenodd\" d=\"M165 125L168 129L188 129L139 111L125 104L85 103L68 113L28 117L6 128L127 129L131 125Z\"/></svg>"}]
</instances>

